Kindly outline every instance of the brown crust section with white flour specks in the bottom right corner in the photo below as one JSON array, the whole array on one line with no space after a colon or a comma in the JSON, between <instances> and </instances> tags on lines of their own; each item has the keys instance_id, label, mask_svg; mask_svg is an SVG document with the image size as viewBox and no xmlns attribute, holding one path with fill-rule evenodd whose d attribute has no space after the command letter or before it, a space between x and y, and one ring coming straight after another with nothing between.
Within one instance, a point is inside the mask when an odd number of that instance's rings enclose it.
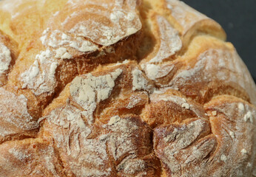
<instances>
[{"instance_id":1,"label":"brown crust section with white flour specks in the bottom right corner","mask_svg":"<svg viewBox=\"0 0 256 177\"><path fill-rule=\"evenodd\" d=\"M219 102L219 100L222 100ZM239 107L243 104L243 110ZM254 163L254 144L255 123L253 121L244 121L246 114L252 114L256 117L256 108L249 103L241 103L241 100L232 96L215 97L205 105L207 111L215 109L218 114L210 117L212 133L218 135L218 150L215 151L212 161L215 164L209 165L209 168L216 169L213 176L221 176L223 173L232 174L233 176L250 176L253 167L246 163ZM229 145L229 146L227 146ZM248 156L252 154L252 156ZM226 162L223 165L218 159ZM232 168L234 165L236 168Z\"/></svg>"}]
</instances>

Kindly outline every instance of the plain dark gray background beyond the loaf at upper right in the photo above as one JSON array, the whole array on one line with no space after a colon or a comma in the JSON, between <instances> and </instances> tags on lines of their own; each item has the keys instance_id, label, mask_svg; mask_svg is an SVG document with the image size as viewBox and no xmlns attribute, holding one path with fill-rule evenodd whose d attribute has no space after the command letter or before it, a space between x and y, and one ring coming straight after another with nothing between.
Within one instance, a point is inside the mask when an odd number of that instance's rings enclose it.
<instances>
[{"instance_id":1,"label":"plain dark gray background beyond the loaf at upper right","mask_svg":"<svg viewBox=\"0 0 256 177\"><path fill-rule=\"evenodd\" d=\"M218 21L256 79L256 0L183 0Z\"/></svg>"}]
</instances>

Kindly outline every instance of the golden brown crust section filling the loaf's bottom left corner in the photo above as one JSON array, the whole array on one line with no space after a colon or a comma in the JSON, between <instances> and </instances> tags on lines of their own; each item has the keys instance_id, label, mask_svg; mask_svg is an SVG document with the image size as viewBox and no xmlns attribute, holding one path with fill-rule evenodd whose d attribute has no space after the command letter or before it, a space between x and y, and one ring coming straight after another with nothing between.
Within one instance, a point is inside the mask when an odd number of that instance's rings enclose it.
<instances>
[{"instance_id":1,"label":"golden brown crust section filling the loaf's bottom left corner","mask_svg":"<svg viewBox=\"0 0 256 177\"><path fill-rule=\"evenodd\" d=\"M58 154L42 139L6 142L0 154L1 176L65 176Z\"/></svg>"}]
</instances>

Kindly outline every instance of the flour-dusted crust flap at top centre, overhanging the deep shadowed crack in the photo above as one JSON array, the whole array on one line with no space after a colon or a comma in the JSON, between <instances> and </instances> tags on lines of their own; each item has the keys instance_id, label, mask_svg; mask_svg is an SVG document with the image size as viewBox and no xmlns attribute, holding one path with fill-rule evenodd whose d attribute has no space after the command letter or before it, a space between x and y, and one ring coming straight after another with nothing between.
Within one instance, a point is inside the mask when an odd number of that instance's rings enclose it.
<instances>
[{"instance_id":1,"label":"flour-dusted crust flap at top centre, overhanging the deep shadowed crack","mask_svg":"<svg viewBox=\"0 0 256 177\"><path fill-rule=\"evenodd\" d=\"M79 15L87 14L91 18L75 24L69 32L90 38L96 44L110 46L141 30L141 21L135 12L135 0L112 0L106 4L97 0L82 4L89 7L87 12L73 14L70 21ZM98 9L101 9L101 18L97 17Z\"/></svg>"}]
</instances>

